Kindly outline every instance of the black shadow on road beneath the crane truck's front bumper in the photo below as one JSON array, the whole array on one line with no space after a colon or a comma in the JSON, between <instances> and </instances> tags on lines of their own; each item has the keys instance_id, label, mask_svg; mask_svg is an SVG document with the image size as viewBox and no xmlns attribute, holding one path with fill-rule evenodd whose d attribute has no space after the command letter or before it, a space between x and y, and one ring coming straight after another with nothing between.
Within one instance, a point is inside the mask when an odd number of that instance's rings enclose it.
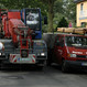
<instances>
[{"instance_id":1,"label":"black shadow on road beneath the crane truck's front bumper","mask_svg":"<svg viewBox=\"0 0 87 87\"><path fill-rule=\"evenodd\" d=\"M4 65L1 72L42 72L44 68L34 65Z\"/></svg>"}]
</instances>

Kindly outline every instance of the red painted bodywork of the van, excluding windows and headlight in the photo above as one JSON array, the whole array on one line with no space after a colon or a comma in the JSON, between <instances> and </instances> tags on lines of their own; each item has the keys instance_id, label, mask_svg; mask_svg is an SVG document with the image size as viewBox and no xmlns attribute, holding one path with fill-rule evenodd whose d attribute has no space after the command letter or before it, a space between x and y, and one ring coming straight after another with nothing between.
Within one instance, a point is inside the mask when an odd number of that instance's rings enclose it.
<instances>
[{"instance_id":1,"label":"red painted bodywork of the van, excluding windows and headlight","mask_svg":"<svg viewBox=\"0 0 87 87\"><path fill-rule=\"evenodd\" d=\"M79 57L68 57L68 54L77 54L77 55L86 55L87 56L87 48L81 48L81 47L74 47L74 46L66 46L65 45L65 36L84 36L87 37L85 35L75 35L75 34L58 34L57 36L63 37L64 39L64 46L57 46L54 45L54 54L56 57L56 62L62 64L62 59L67 59L67 61L87 61L87 58L79 58ZM57 37L56 36L56 37ZM61 40L61 39L59 39ZM56 39L55 39L55 43L56 43ZM79 52L79 53L73 53L73 52ZM81 53L81 54L80 54Z\"/></svg>"}]
</instances>

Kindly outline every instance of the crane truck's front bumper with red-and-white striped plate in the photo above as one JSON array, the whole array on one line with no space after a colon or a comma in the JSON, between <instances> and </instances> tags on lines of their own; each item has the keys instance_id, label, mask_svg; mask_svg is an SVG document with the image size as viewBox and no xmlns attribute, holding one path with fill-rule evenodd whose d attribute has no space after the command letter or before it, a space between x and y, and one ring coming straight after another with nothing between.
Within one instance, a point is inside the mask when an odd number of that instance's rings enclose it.
<instances>
[{"instance_id":1,"label":"crane truck's front bumper with red-and-white striped plate","mask_svg":"<svg viewBox=\"0 0 87 87\"><path fill-rule=\"evenodd\" d=\"M11 64L44 64L47 56L36 56L36 54L29 54L29 57L21 57L20 54L10 54L4 63Z\"/></svg>"}]
</instances>

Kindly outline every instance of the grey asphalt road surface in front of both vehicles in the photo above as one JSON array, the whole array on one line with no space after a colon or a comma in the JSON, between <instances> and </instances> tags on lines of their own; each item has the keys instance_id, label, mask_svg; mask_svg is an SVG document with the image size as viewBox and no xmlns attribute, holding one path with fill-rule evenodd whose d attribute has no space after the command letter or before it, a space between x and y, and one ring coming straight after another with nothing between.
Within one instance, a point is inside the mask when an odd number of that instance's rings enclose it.
<instances>
[{"instance_id":1,"label":"grey asphalt road surface in front of both vehicles","mask_svg":"<svg viewBox=\"0 0 87 87\"><path fill-rule=\"evenodd\" d=\"M1 69L0 87L87 87L87 72L64 74L57 65L31 68Z\"/></svg>"}]
</instances>

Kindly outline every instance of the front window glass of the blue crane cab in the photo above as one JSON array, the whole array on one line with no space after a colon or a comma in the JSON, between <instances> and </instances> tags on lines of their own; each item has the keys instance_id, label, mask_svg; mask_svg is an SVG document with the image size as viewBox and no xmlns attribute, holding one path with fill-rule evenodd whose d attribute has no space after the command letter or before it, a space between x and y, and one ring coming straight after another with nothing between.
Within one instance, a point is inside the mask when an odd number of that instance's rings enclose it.
<instances>
[{"instance_id":1,"label":"front window glass of the blue crane cab","mask_svg":"<svg viewBox=\"0 0 87 87\"><path fill-rule=\"evenodd\" d=\"M29 25L30 29L40 30L40 14L37 10L26 11L26 25Z\"/></svg>"}]
</instances>

